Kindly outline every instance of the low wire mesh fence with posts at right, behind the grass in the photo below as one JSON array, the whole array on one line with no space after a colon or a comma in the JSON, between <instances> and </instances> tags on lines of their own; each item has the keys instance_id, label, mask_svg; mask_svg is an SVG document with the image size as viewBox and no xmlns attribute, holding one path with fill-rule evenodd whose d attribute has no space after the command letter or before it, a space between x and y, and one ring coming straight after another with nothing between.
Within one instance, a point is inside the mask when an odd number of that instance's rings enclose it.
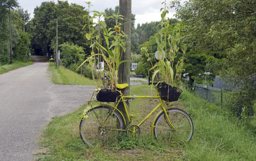
<instances>
[{"instance_id":1,"label":"low wire mesh fence with posts at right, behind the grass","mask_svg":"<svg viewBox=\"0 0 256 161\"><path fill-rule=\"evenodd\" d=\"M195 84L195 92L204 100L222 107L226 97L231 94L229 90L214 88L208 85Z\"/></svg>"}]
</instances>

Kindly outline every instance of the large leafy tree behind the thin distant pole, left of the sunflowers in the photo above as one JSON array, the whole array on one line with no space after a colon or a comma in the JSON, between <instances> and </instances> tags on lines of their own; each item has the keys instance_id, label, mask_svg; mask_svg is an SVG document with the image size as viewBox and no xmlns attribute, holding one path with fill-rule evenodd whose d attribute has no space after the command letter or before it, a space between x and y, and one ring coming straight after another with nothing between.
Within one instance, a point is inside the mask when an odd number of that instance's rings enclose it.
<instances>
[{"instance_id":1,"label":"large leafy tree behind the thin distant pole, left of the sunflowers","mask_svg":"<svg viewBox=\"0 0 256 161\"><path fill-rule=\"evenodd\" d=\"M89 41L86 39L85 34L88 33L89 28L83 25L88 21L88 15L85 7L71 3L68 1L58 1L54 11L56 19L48 23L49 30L47 31L48 40L51 42L51 49L55 50L56 45L56 21L58 20L58 43L64 42L73 43L83 48L86 55L90 55Z\"/></svg>"}]
</instances>

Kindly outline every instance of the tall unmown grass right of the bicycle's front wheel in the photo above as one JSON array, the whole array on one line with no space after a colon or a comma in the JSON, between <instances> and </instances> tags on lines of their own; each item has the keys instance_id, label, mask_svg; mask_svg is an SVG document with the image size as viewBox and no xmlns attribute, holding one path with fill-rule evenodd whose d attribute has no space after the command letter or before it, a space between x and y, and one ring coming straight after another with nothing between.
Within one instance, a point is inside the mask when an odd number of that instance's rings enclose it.
<instances>
[{"instance_id":1,"label":"tall unmown grass right of the bicycle's front wheel","mask_svg":"<svg viewBox=\"0 0 256 161\"><path fill-rule=\"evenodd\" d=\"M183 148L183 160L255 160L255 131L246 120L230 117L220 107L184 92L181 105L194 122L194 135Z\"/></svg>"}]
</instances>

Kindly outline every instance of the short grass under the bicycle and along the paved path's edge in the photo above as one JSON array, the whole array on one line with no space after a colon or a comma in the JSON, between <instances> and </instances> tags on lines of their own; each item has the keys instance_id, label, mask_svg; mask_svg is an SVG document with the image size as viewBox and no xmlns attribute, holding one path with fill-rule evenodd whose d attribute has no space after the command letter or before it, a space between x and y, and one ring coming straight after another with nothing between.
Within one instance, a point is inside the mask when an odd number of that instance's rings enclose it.
<instances>
[{"instance_id":1,"label":"short grass under the bicycle and along the paved path's edge","mask_svg":"<svg viewBox=\"0 0 256 161\"><path fill-rule=\"evenodd\" d=\"M141 95L151 93L150 86L131 86L131 92ZM155 94L153 91L152 94ZM142 101L144 100L144 101ZM150 101L150 105L146 105ZM130 112L139 113L134 123L141 121L158 104L157 99L135 99L130 105ZM88 147L83 144L79 135L79 120L83 105L73 113L66 116L55 117L42 134L42 150L38 153L38 160L174 160L179 158L182 151L175 144L164 144L155 140L150 132L151 116L141 126L141 136L134 140L121 137L120 142L113 142L104 147ZM157 111L158 112L158 111ZM155 113L156 114L156 113ZM141 142L135 144L135 142ZM127 149L134 147L132 149ZM123 149L124 148L124 149Z\"/></svg>"}]
</instances>

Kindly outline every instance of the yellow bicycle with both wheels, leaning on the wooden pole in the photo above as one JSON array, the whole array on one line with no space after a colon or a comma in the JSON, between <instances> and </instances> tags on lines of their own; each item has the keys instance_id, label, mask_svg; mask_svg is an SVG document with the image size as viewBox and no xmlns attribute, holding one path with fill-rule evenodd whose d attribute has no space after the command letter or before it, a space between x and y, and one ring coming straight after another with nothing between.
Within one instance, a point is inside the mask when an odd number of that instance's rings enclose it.
<instances>
[{"instance_id":1,"label":"yellow bicycle with both wheels, leaning on the wooden pole","mask_svg":"<svg viewBox=\"0 0 256 161\"><path fill-rule=\"evenodd\" d=\"M155 138L163 139L167 142L189 142L194 131L190 116L181 109L164 107L161 95L157 90L157 86L163 82L153 83L157 96L136 96L134 94L125 96L121 91L117 90L119 97L117 97L114 105L100 104L89 106L83 112L80 120L79 130L83 142L89 146L101 144L102 142L108 142L118 138L118 135L122 132L126 132L129 137L140 135L140 126L159 108L161 108L161 111L155 116L151 125L151 133ZM127 86L128 84L119 84L117 88L124 89ZM135 98L158 98L160 102L137 125L133 124L133 115L129 114L126 104L126 101L130 102ZM117 109L120 102L123 103L124 111L126 115L129 116L127 119L125 119L124 114ZM166 104L168 104L168 102L166 102Z\"/></svg>"}]
</instances>

